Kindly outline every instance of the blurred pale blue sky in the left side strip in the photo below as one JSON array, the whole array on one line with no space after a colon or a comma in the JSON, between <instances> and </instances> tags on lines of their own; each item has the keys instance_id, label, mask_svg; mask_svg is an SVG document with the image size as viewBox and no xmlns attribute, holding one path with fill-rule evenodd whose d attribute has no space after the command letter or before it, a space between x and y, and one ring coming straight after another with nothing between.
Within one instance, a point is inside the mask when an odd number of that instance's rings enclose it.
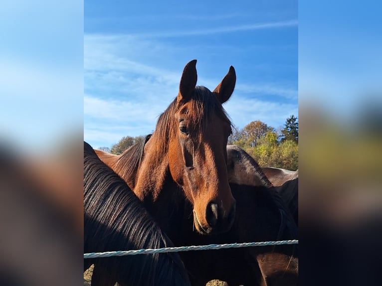
<instances>
[{"instance_id":1,"label":"blurred pale blue sky in the left side strip","mask_svg":"<svg viewBox=\"0 0 382 286\"><path fill-rule=\"evenodd\" d=\"M57 152L83 128L82 2L5 0L0 19L0 143Z\"/></svg>"}]
</instances>

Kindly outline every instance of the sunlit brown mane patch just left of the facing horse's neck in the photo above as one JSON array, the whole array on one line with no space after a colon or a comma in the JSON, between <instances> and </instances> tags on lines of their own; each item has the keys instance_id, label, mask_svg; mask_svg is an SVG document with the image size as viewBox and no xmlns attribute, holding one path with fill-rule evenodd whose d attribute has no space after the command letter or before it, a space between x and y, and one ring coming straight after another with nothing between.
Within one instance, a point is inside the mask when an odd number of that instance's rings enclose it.
<instances>
[{"instance_id":1,"label":"sunlit brown mane patch just left of the facing horse's neck","mask_svg":"<svg viewBox=\"0 0 382 286\"><path fill-rule=\"evenodd\" d=\"M128 182L131 174L137 174L144 155L145 144L149 141L151 134L147 135L141 142L126 149L118 160L112 165L121 178ZM133 188L133 186L130 186Z\"/></svg>"}]
</instances>

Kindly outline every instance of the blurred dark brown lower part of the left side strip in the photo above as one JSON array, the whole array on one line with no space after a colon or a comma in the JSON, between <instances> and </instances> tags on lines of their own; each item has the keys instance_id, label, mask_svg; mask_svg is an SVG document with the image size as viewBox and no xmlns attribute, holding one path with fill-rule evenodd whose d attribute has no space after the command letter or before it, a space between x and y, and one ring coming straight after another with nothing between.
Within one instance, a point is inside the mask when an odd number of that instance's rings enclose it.
<instances>
[{"instance_id":1,"label":"blurred dark brown lower part of the left side strip","mask_svg":"<svg viewBox=\"0 0 382 286\"><path fill-rule=\"evenodd\" d=\"M0 143L0 285L82 284L82 173L70 169Z\"/></svg>"}]
</instances>

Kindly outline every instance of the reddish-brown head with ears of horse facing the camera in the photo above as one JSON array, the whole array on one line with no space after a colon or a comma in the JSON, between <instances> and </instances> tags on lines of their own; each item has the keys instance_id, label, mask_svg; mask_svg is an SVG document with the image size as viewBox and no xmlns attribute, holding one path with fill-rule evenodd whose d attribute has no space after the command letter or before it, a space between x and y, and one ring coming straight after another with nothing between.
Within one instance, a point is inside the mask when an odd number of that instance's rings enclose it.
<instances>
[{"instance_id":1,"label":"reddish-brown head with ears of horse facing the camera","mask_svg":"<svg viewBox=\"0 0 382 286\"><path fill-rule=\"evenodd\" d=\"M196 86L196 60L182 75L174 101L169 166L193 205L194 225L200 233L225 232L233 223L235 199L227 177L231 123L221 104L231 96L236 74L231 66L213 92Z\"/></svg>"}]
</instances>

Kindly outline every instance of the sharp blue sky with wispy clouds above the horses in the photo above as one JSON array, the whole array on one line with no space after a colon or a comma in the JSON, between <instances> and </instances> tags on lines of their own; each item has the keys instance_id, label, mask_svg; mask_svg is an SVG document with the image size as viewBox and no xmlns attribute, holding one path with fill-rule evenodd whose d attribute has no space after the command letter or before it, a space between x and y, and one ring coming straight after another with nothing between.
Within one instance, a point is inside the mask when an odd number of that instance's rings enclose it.
<instances>
[{"instance_id":1,"label":"sharp blue sky with wispy clouds above the horses","mask_svg":"<svg viewBox=\"0 0 382 286\"><path fill-rule=\"evenodd\" d=\"M224 104L243 128L278 128L298 116L297 1L84 1L84 140L111 147L155 129L197 59L197 85L213 90L230 65Z\"/></svg>"}]
</instances>

